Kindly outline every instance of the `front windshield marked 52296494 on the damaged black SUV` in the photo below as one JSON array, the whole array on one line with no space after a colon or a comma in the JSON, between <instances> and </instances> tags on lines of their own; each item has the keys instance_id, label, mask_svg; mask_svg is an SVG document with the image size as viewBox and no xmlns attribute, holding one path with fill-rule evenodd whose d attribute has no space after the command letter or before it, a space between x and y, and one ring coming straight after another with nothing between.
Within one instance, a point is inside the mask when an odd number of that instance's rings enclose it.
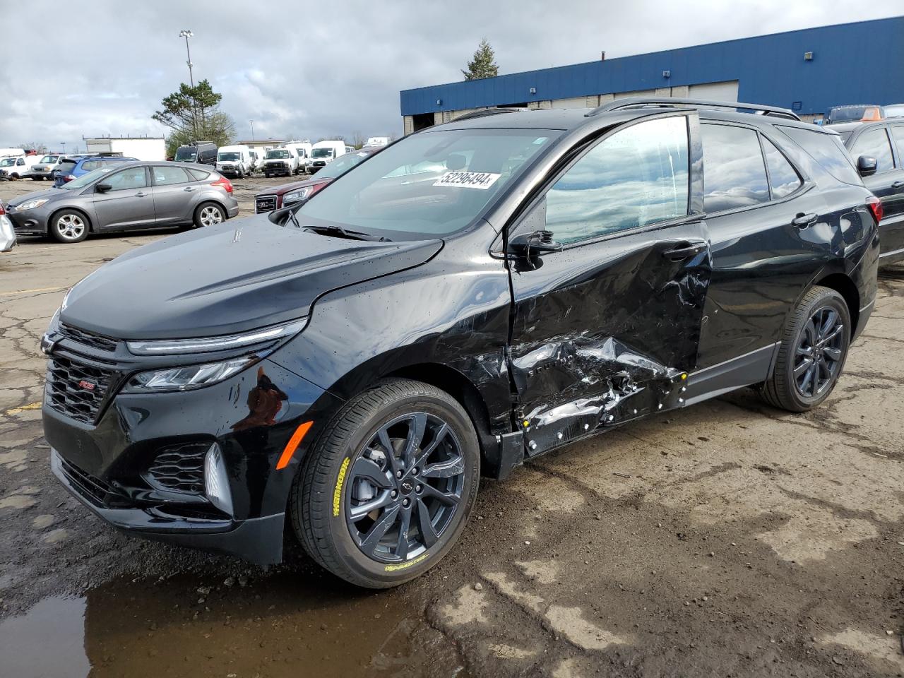
<instances>
[{"instance_id":1,"label":"front windshield marked 52296494 on the damaged black SUV","mask_svg":"<svg viewBox=\"0 0 904 678\"><path fill-rule=\"evenodd\" d=\"M393 240L447 235L474 221L560 134L550 129L421 132L329 184L296 212L297 219L302 226L390 231Z\"/></svg>"}]
</instances>

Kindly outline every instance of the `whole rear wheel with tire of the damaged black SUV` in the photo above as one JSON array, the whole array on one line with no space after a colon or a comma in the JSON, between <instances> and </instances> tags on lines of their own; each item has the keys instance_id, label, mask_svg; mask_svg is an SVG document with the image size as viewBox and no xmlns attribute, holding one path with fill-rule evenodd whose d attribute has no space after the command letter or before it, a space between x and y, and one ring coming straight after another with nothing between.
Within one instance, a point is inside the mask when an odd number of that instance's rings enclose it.
<instances>
[{"instance_id":1,"label":"whole rear wheel with tire of the damaged black SUV","mask_svg":"<svg viewBox=\"0 0 904 678\"><path fill-rule=\"evenodd\" d=\"M807 292L785 326L772 377L760 387L764 400L791 412L823 402L843 371L851 331L844 297L829 287Z\"/></svg>"}]
</instances>

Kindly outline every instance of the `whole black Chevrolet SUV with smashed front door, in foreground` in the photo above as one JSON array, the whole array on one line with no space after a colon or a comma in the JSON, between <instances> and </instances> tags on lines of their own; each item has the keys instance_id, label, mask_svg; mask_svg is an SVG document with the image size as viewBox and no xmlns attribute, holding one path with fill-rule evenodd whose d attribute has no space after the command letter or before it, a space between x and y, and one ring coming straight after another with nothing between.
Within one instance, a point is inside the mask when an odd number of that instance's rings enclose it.
<instances>
[{"instance_id":1,"label":"whole black Chevrolet SUV with smashed front door, in foreground","mask_svg":"<svg viewBox=\"0 0 904 678\"><path fill-rule=\"evenodd\" d=\"M394 586L481 475L745 386L821 403L876 296L877 205L784 109L469 114L72 287L42 339L52 467L127 532L267 563L289 521Z\"/></svg>"}]
</instances>

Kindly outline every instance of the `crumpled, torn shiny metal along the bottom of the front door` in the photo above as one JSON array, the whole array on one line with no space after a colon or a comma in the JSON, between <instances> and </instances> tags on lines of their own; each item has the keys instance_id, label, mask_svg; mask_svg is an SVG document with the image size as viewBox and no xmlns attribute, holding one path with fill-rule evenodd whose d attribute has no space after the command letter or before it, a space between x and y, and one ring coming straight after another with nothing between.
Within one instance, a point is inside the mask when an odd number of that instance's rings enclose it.
<instances>
[{"instance_id":1,"label":"crumpled, torn shiny metal along the bottom of the front door","mask_svg":"<svg viewBox=\"0 0 904 678\"><path fill-rule=\"evenodd\" d=\"M520 424L528 455L539 454L645 413L683 404L687 373L657 363L615 337L581 334L542 344L513 360L518 391L558 394ZM581 384L579 391L575 384ZM574 398L580 392L585 395Z\"/></svg>"}]
</instances>

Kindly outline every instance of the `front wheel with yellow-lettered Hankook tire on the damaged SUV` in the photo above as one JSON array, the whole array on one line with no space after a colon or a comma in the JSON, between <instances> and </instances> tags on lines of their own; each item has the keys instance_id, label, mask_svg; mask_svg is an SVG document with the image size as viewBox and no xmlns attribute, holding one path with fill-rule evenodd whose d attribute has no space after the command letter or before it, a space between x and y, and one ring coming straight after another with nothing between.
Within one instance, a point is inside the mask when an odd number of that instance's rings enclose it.
<instances>
[{"instance_id":1,"label":"front wheel with yellow-lettered Hankook tire on the damaged SUV","mask_svg":"<svg viewBox=\"0 0 904 678\"><path fill-rule=\"evenodd\" d=\"M415 438L415 421L423 422L422 438L406 465L401 457L406 440ZM393 447L391 455L381 440ZM393 474L397 466L401 478ZM357 586L387 589L419 577L452 548L479 480L476 432L457 400L420 381L392 379L349 400L327 424L295 478L289 510L298 540L325 570ZM410 532L402 546L406 516Z\"/></svg>"}]
</instances>

